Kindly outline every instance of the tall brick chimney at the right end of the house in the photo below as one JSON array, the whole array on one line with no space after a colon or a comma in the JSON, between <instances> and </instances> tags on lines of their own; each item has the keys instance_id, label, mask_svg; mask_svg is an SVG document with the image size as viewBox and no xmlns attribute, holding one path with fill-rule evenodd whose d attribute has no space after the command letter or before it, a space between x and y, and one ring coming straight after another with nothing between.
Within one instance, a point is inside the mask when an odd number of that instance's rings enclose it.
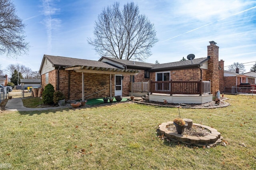
<instances>
[{"instance_id":1,"label":"tall brick chimney at the right end of the house","mask_svg":"<svg viewBox=\"0 0 256 170\"><path fill-rule=\"evenodd\" d=\"M207 56L210 56L208 60L208 70L206 71L206 79L211 80L211 93L216 96L216 92L220 87L219 76L219 47L216 42L209 42L207 46Z\"/></svg>"}]
</instances>

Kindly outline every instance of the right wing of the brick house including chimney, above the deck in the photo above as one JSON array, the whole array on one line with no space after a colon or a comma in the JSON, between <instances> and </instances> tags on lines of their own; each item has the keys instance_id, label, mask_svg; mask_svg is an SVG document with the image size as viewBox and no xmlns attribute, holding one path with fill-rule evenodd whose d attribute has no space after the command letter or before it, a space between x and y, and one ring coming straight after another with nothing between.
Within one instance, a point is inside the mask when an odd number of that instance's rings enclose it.
<instances>
[{"instance_id":1,"label":"right wing of the brick house including chimney, above the deck","mask_svg":"<svg viewBox=\"0 0 256 170\"><path fill-rule=\"evenodd\" d=\"M215 42L210 42L207 46L208 57L198 58L185 61L177 61L172 63L152 64L138 61L129 61L115 59L110 57L102 57L99 61L118 65L118 67L127 69L138 69L140 72L134 78L124 77L123 85L128 86L130 81L199 81L211 80L211 93L215 95L219 90L219 62L218 49ZM123 88L123 94L128 95L129 89Z\"/></svg>"}]
</instances>

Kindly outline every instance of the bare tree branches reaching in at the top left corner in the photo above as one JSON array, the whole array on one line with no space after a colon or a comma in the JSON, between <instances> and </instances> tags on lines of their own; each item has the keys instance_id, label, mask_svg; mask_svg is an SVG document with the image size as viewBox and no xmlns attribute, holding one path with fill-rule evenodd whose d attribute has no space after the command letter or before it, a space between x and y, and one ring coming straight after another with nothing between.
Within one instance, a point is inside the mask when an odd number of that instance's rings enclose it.
<instances>
[{"instance_id":1,"label":"bare tree branches reaching in at the top left corner","mask_svg":"<svg viewBox=\"0 0 256 170\"><path fill-rule=\"evenodd\" d=\"M24 28L12 1L0 0L0 54L17 58L28 51Z\"/></svg>"}]
</instances>

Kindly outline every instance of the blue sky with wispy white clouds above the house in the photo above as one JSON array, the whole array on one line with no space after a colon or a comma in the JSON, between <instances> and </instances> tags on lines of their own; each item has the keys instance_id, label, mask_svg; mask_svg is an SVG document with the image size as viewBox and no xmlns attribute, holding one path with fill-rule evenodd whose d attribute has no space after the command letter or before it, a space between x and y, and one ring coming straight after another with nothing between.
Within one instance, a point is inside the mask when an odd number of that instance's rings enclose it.
<instances>
[{"instance_id":1,"label":"blue sky with wispy white clouds above the house","mask_svg":"<svg viewBox=\"0 0 256 170\"><path fill-rule=\"evenodd\" d=\"M13 0L26 24L28 55L18 59L1 55L1 66L20 63L40 69L44 54L98 60L86 41L93 38L94 22L115 0ZM130 1L120 0L120 6ZM154 23L159 42L148 63L179 61L193 53L207 57L207 45L216 42L224 65L244 63L246 72L256 61L256 1L253 0L134 0L140 14ZM251 63L249 63L251 62ZM227 67L225 67L227 69Z\"/></svg>"}]
</instances>

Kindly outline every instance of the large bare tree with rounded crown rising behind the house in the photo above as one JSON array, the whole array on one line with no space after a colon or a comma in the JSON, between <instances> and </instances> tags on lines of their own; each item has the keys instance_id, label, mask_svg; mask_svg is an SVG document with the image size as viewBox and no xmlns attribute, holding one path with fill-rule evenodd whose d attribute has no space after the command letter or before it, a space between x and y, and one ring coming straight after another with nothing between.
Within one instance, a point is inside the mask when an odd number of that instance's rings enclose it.
<instances>
[{"instance_id":1,"label":"large bare tree with rounded crown rising behind the house","mask_svg":"<svg viewBox=\"0 0 256 170\"><path fill-rule=\"evenodd\" d=\"M133 2L120 11L115 2L102 10L95 21L94 40L87 39L102 56L143 61L151 55L151 47L158 39L154 24L145 15L139 14Z\"/></svg>"}]
</instances>

